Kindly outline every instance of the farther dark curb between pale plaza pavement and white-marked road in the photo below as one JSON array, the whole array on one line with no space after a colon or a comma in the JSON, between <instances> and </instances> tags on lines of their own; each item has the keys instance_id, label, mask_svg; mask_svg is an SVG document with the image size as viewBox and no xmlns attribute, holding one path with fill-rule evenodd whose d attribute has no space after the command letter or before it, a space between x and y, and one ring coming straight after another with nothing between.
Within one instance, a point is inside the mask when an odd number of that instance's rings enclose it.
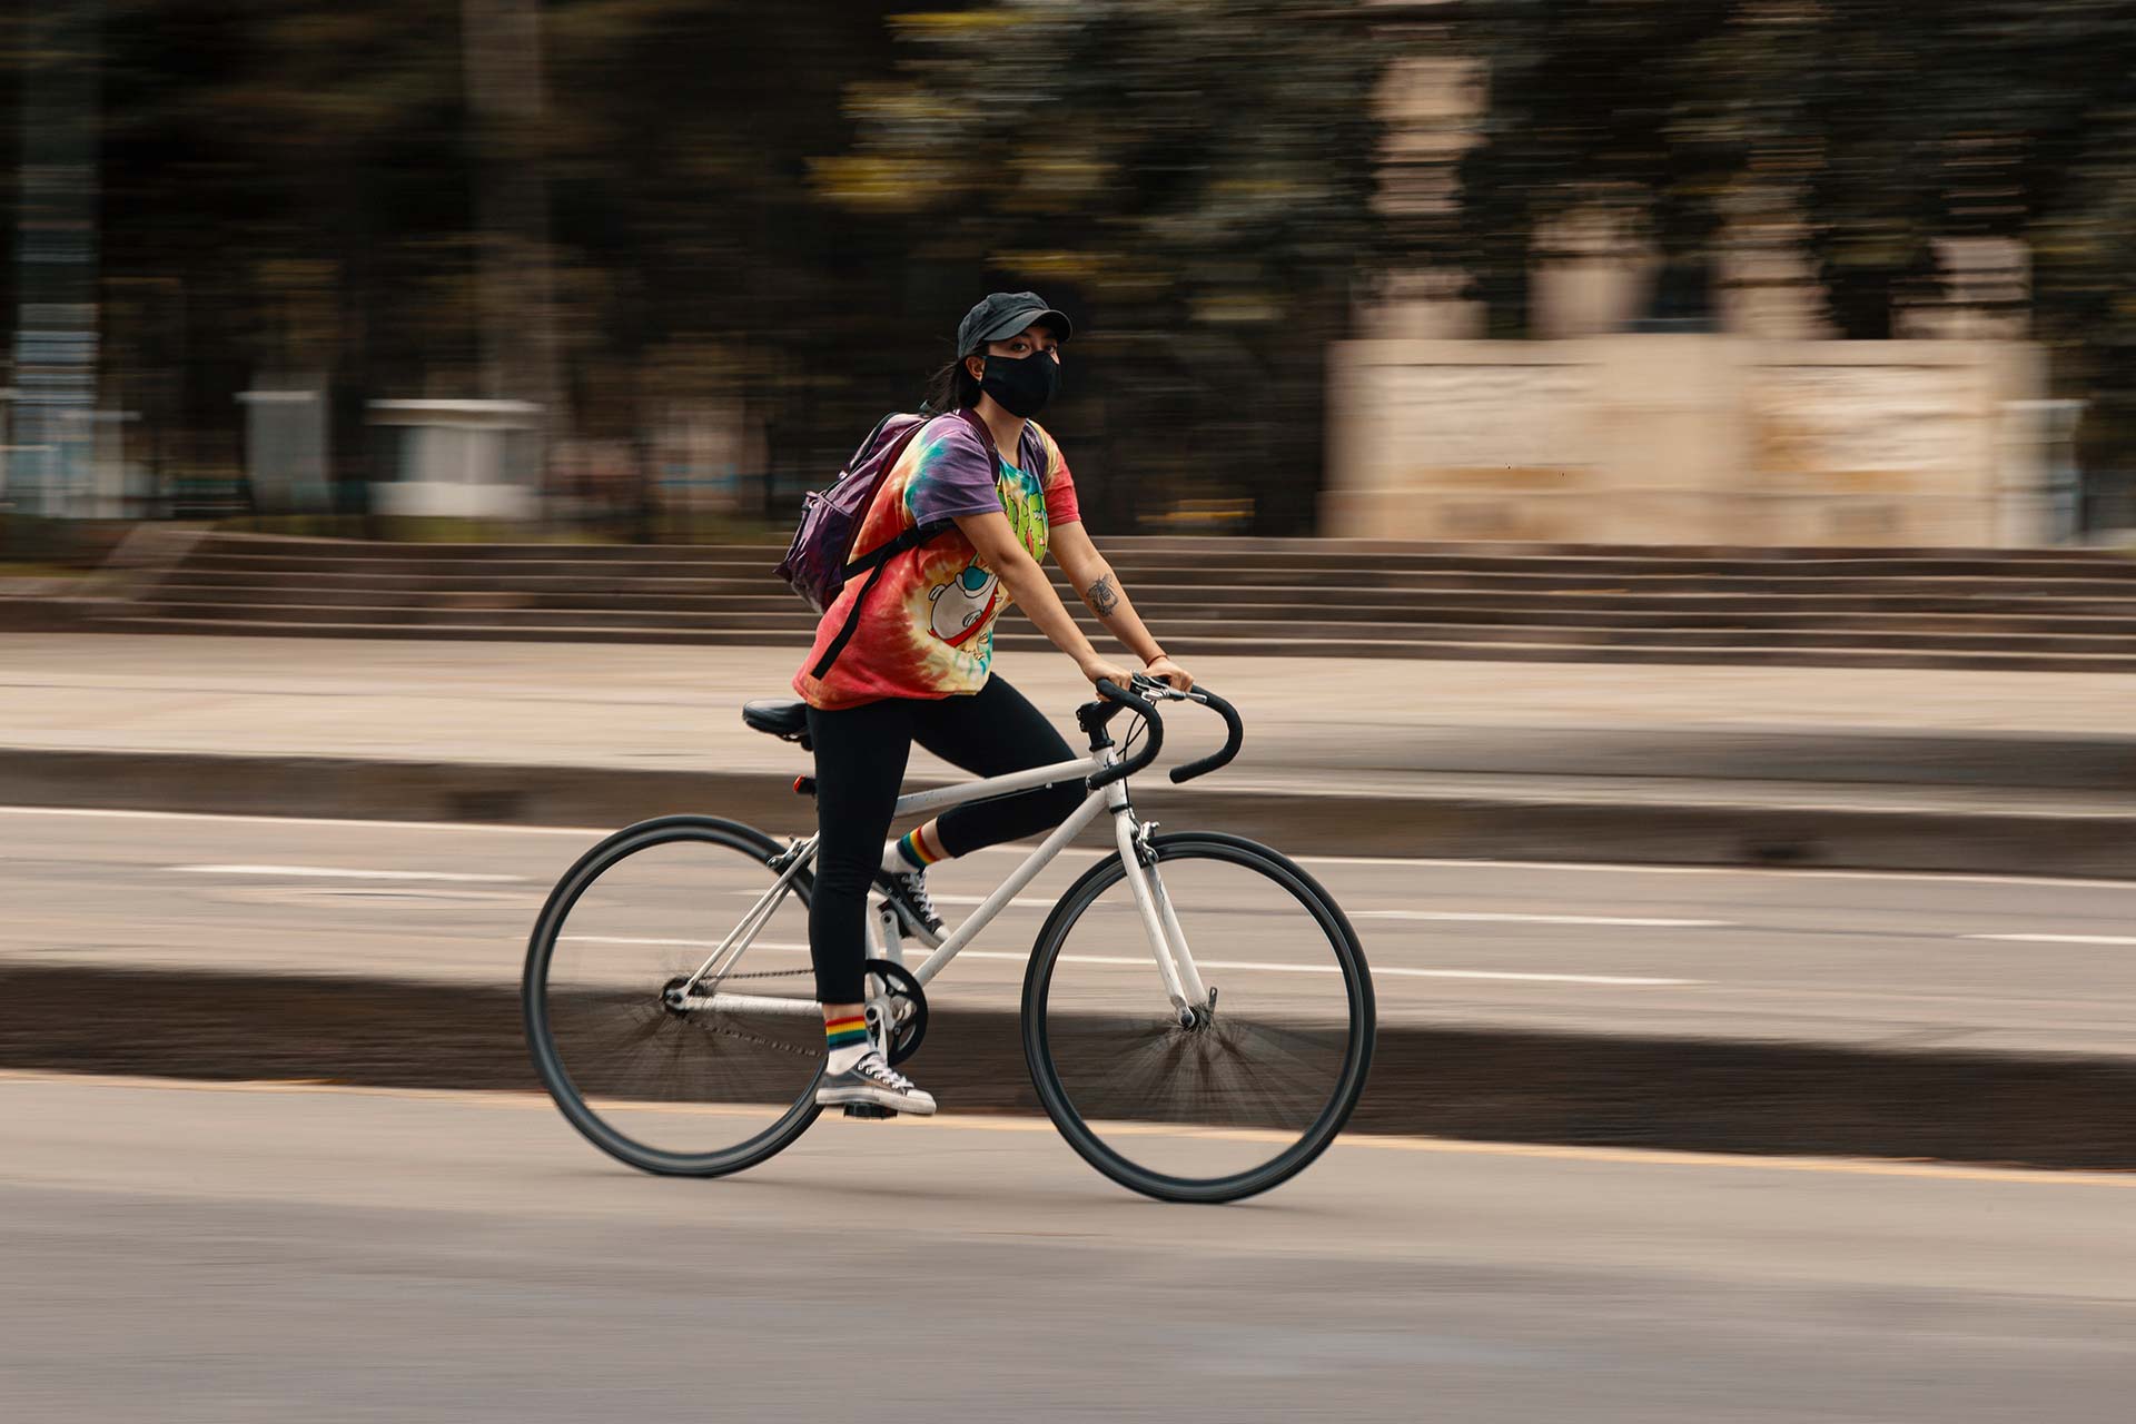
<instances>
[{"instance_id":1,"label":"farther dark curb between pale plaza pavement and white-marked road","mask_svg":"<svg viewBox=\"0 0 2136 1424\"><path fill-rule=\"evenodd\" d=\"M814 824L814 809L795 796L786 773L190 751L0 747L0 798L547 826L624 826L703 811L773 835ZM1138 805L1171 828L1220 826L1294 854L2136 875L2136 816L2123 813L1220 790L1164 781L1147 784Z\"/></svg>"}]
</instances>

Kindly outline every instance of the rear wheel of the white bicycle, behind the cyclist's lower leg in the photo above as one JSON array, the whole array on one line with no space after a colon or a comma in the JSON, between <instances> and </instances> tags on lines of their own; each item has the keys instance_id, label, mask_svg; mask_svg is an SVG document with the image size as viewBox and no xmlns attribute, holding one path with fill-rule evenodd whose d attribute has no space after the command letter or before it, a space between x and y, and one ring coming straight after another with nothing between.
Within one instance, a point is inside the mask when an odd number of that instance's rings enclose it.
<instances>
[{"instance_id":1,"label":"rear wheel of the white bicycle, behind the cyclist's lower leg","mask_svg":"<svg viewBox=\"0 0 2136 1424\"><path fill-rule=\"evenodd\" d=\"M782 852L737 822L666 816L585 852L549 895L521 986L528 1048L557 1108L600 1151L647 1172L720 1176L816 1121L824 1055L807 871L720 984L765 1003L675 1003L778 882L769 860Z\"/></svg>"}]
</instances>

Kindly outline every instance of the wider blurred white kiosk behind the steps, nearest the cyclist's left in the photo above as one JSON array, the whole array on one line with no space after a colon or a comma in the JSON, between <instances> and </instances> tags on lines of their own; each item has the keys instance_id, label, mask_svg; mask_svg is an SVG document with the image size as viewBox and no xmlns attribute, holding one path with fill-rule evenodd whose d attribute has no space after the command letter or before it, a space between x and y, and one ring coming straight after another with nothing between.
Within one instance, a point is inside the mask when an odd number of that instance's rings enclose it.
<instances>
[{"instance_id":1,"label":"wider blurred white kiosk behind the steps, nearest the cyclist's left","mask_svg":"<svg viewBox=\"0 0 2136 1424\"><path fill-rule=\"evenodd\" d=\"M387 427L391 480L372 510L417 519L534 519L540 500L540 406L532 401L372 401Z\"/></svg>"}]
</instances>

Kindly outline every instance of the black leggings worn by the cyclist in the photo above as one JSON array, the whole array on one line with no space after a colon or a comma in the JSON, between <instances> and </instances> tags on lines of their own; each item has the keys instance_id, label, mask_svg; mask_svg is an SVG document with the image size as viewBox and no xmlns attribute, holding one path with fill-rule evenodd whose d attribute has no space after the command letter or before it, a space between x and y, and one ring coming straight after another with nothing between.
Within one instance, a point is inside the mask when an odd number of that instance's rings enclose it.
<instances>
[{"instance_id":1,"label":"black leggings worn by the cyclist","mask_svg":"<svg viewBox=\"0 0 2136 1424\"><path fill-rule=\"evenodd\" d=\"M884 698L839 711L807 711L816 743L816 895L807 912L816 997L859 1003L867 959L867 890L882 869L906 756L921 743L980 777L1074 760L1074 751L1030 700L1000 677L974 694ZM985 845L1049 830L1083 803L1083 781L1017 796L972 801L942 816L942 850L963 856Z\"/></svg>"}]
</instances>

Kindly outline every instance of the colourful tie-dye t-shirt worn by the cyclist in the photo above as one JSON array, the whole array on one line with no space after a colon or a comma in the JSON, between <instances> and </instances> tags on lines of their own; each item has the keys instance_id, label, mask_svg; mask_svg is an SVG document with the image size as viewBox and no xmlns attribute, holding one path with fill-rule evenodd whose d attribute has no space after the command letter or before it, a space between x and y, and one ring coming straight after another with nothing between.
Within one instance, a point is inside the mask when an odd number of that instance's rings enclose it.
<instances>
[{"instance_id":1,"label":"colourful tie-dye t-shirt worn by the cyclist","mask_svg":"<svg viewBox=\"0 0 2136 1424\"><path fill-rule=\"evenodd\" d=\"M912 525L993 510L1008 515L1030 555L1045 561L1053 525L1081 519L1059 446L1025 421L1017 463L1010 465L974 421L936 416L882 480L852 551L863 555ZM795 675L795 692L810 707L833 711L880 698L946 698L987 685L993 623L1010 600L961 529L951 525L918 549L895 555L861 602L852 640L829 673L810 677L863 587L865 576L852 579L816 626L816 643Z\"/></svg>"}]
</instances>

